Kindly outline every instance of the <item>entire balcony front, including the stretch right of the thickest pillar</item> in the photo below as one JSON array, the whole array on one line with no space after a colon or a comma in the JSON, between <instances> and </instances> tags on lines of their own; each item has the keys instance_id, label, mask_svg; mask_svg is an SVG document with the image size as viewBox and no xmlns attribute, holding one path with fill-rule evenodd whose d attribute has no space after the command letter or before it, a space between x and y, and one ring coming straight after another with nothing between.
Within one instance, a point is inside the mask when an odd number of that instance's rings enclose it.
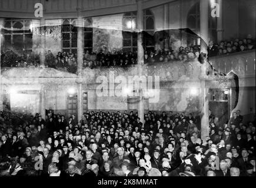
<instances>
[{"instance_id":1,"label":"entire balcony front, including the stretch right of the thickest pillar","mask_svg":"<svg viewBox=\"0 0 256 188\"><path fill-rule=\"evenodd\" d=\"M210 58L212 67L218 72L228 74L234 72L238 78L244 80L245 78L255 78L255 50L247 52L238 52L231 55L216 56ZM143 66L142 75L145 76L159 76L161 82L171 81L198 81L200 75L201 64L198 61L172 61L168 63L147 63ZM212 72L212 68L208 65L208 71ZM129 66L102 66L91 68L84 68L82 70L83 83L95 83L97 76L105 76L109 78L109 73L114 73L114 76L136 76L138 75L138 65ZM61 69L52 68L2 68L1 69L2 83L4 82L72 82L78 78L77 74L69 73ZM215 79L215 77L212 77ZM68 81L69 80L69 81ZM250 81L251 82L251 81ZM244 81L245 83L245 81ZM255 83L252 81L251 85Z\"/></svg>"}]
</instances>

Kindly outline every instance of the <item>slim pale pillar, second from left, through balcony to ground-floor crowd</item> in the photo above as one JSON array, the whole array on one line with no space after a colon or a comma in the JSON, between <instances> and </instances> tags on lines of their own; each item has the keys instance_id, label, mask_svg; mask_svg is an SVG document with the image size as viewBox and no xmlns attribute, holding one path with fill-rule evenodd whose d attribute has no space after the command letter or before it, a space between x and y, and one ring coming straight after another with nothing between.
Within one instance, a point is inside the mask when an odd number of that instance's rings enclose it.
<instances>
[{"instance_id":1,"label":"slim pale pillar, second from left, through balcony to ground-floor crowd","mask_svg":"<svg viewBox=\"0 0 256 188\"><path fill-rule=\"evenodd\" d=\"M78 16L77 19L77 118L78 122L82 119L83 111L83 95L82 95L82 65L84 54L84 19Z\"/></svg>"}]
</instances>

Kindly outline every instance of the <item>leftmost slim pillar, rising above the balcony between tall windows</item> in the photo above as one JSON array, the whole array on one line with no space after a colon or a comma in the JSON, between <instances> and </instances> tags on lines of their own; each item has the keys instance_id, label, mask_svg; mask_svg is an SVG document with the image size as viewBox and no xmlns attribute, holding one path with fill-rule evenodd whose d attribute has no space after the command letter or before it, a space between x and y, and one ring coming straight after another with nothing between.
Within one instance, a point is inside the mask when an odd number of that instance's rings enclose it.
<instances>
[{"instance_id":1,"label":"leftmost slim pillar, rising above the balcony between tall windows","mask_svg":"<svg viewBox=\"0 0 256 188\"><path fill-rule=\"evenodd\" d=\"M40 65L45 66L45 19L40 19L40 27L39 27L39 36L40 36L40 50L39 50L39 58L40 58Z\"/></svg>"}]
</instances>

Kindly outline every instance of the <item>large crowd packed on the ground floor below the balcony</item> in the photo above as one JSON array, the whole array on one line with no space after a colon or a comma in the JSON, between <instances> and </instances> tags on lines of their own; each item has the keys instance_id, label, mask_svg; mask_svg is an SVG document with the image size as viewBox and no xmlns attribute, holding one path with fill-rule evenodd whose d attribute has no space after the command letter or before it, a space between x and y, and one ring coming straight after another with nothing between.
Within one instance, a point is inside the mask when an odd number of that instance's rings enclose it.
<instances>
[{"instance_id":1,"label":"large crowd packed on the ground floor below the balcony","mask_svg":"<svg viewBox=\"0 0 256 188\"><path fill-rule=\"evenodd\" d=\"M191 113L1 112L0 176L255 176L255 120L234 112L201 139Z\"/></svg>"}]
</instances>

